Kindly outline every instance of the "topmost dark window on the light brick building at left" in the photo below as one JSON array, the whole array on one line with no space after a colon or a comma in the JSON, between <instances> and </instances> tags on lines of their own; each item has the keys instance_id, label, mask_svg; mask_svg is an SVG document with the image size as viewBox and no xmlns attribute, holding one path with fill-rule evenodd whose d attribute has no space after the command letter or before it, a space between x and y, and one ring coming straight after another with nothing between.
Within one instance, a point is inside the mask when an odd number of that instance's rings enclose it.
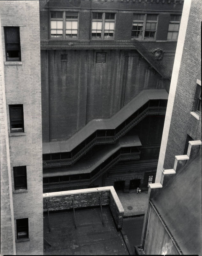
<instances>
[{"instance_id":1,"label":"topmost dark window on the light brick building at left","mask_svg":"<svg viewBox=\"0 0 202 256\"><path fill-rule=\"evenodd\" d=\"M5 53L7 61L20 61L19 27L4 27Z\"/></svg>"}]
</instances>

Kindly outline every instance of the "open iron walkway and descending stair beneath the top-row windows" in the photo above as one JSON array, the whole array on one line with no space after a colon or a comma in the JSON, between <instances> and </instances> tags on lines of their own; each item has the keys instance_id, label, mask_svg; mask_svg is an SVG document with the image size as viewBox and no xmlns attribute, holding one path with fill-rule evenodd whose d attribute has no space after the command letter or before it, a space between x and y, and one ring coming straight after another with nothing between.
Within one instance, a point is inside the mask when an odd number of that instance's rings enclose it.
<instances>
[{"instance_id":1,"label":"open iron walkway and descending stair beneath the top-row windows","mask_svg":"<svg viewBox=\"0 0 202 256\"><path fill-rule=\"evenodd\" d=\"M136 39L133 40L41 40L41 49L136 49L163 78L171 79L171 71L159 64L155 57Z\"/></svg>"}]
</instances>

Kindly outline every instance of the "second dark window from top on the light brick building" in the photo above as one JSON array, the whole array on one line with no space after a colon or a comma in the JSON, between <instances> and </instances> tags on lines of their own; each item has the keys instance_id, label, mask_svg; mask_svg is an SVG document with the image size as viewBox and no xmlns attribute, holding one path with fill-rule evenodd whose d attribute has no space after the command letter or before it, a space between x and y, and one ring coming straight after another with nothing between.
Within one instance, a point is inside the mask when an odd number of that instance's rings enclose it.
<instances>
[{"instance_id":1,"label":"second dark window from top on the light brick building","mask_svg":"<svg viewBox=\"0 0 202 256\"><path fill-rule=\"evenodd\" d=\"M9 105L11 132L24 132L23 105Z\"/></svg>"}]
</instances>

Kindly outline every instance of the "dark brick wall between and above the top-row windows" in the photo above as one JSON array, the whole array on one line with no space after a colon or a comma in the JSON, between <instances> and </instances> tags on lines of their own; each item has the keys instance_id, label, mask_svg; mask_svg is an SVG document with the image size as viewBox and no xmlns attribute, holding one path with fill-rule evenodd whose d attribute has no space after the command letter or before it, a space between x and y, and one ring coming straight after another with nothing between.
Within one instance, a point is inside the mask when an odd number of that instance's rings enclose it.
<instances>
[{"instance_id":1,"label":"dark brick wall between and above the top-row windows","mask_svg":"<svg viewBox=\"0 0 202 256\"><path fill-rule=\"evenodd\" d=\"M120 2L120 1L89 1L89 0L74 0L74 1L49 1L46 6L54 8L72 8L67 9L70 11L79 12L79 36L78 39L90 39L90 12L115 12L115 39L117 40L130 40L131 28L133 20L133 12L135 11L157 11L159 12L159 20L157 26L156 40L167 40L167 30L169 25L170 13L172 11L182 12L182 4L173 4L173 1L168 3L140 3L139 1L133 2ZM74 8L88 8L88 9L74 9ZM91 10L90 10L91 9ZM97 10L96 10L97 9ZM111 9L111 10L110 10ZM63 10L63 9L60 9ZM64 9L65 10L65 9ZM166 11L163 13L162 11ZM169 11L169 12L167 12ZM41 39L48 39L49 18L48 8L43 8L40 12L40 25L41 25Z\"/></svg>"}]
</instances>

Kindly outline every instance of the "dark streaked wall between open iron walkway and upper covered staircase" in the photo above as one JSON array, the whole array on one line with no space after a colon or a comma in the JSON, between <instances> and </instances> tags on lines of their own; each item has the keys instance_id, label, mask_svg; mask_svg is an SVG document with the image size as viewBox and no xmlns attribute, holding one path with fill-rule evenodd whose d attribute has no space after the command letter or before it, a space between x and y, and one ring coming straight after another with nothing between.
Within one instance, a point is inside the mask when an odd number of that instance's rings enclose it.
<instances>
[{"instance_id":1,"label":"dark streaked wall between open iron walkway and upper covered staircase","mask_svg":"<svg viewBox=\"0 0 202 256\"><path fill-rule=\"evenodd\" d=\"M96 63L97 51L42 51L44 142L66 140L90 120L111 117L143 89L163 88L136 51L105 50L106 63Z\"/></svg>"}]
</instances>

